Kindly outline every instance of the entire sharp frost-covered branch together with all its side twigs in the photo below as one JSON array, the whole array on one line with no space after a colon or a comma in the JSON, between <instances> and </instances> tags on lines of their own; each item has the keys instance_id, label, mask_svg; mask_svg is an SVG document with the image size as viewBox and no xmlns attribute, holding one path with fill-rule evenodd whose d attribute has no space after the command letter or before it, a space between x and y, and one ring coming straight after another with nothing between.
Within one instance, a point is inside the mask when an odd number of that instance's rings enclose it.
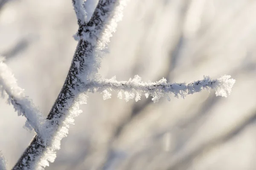
<instances>
[{"instance_id":1,"label":"entire sharp frost-covered branch together with all its side twigs","mask_svg":"<svg viewBox=\"0 0 256 170\"><path fill-rule=\"evenodd\" d=\"M216 96L227 97L235 80L224 75L219 79L204 77L189 83L170 83L166 79L157 82L143 82L135 76L128 81L103 79L98 74L104 51L110 42L117 23L122 19L122 11L128 0L99 0L93 14L88 19L85 0L72 0L79 29L76 33L78 45L67 78L48 116L44 118L32 100L25 95L12 72L0 58L0 91L7 96L18 115L25 116L26 127L35 130L35 137L13 167L13 170L42 170L56 158L61 139L67 136L74 117L81 113L79 105L87 101L87 93L100 92L103 99L111 98L111 91L118 92L119 99L129 101L142 96L152 96L153 102L169 94L185 97L203 89L214 89ZM0 157L0 168L4 169L4 159Z\"/></svg>"}]
</instances>

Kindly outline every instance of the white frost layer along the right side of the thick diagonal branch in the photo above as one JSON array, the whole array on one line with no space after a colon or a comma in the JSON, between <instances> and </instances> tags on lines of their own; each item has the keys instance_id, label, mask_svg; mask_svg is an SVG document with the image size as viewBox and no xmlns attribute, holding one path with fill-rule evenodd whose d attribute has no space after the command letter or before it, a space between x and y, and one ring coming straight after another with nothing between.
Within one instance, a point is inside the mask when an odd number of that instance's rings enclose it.
<instances>
[{"instance_id":1,"label":"white frost layer along the right side of the thick diagonal branch","mask_svg":"<svg viewBox=\"0 0 256 170\"><path fill-rule=\"evenodd\" d=\"M80 1L81 2L81 1ZM120 0L116 2L117 5L114 6L113 11L111 11L111 16L113 16L102 28L99 28L98 30L95 28L95 26L86 26L86 29L89 30L89 32L83 32L80 39L83 39L85 42L87 42L89 47L93 47L93 53L90 53L90 50L85 49L84 55L84 63L86 63L86 66L84 70L85 72L79 72L79 75L76 75L79 77L82 81L84 81L85 84L88 82L92 82L94 85L94 81L97 79L100 79L97 75L98 68L100 66L101 58L105 54L105 49L107 46L107 43L110 41L110 37L112 36L112 33L116 30L117 22L122 19L122 10L126 4L126 0ZM112 6L113 4L111 4ZM105 6L106 7L106 6ZM100 9L96 9L98 12ZM99 12L99 14L102 14ZM113 15L112 15L113 14ZM79 15L79 17L81 17ZM107 20L108 18L102 15L100 17L101 20ZM94 36L90 36L94 35ZM81 66L79 62L75 63L76 68L81 70ZM105 89L106 90L106 89ZM88 91L88 89L85 91L85 93ZM111 94L108 91L101 91L104 93L104 99L108 99L111 97ZM74 94L77 94L77 91L74 91ZM49 166L49 162L53 162L56 157L56 151L60 149L60 142L61 139L67 136L69 125L73 124L74 117L78 116L79 113L81 113L81 110L79 110L79 105L86 103L86 94L84 97L80 97L79 99L76 99L74 103L65 103L63 110L67 109L67 117L62 120L58 118L53 118L49 121L47 121L43 126L43 133L42 138L44 139L44 145L47 146L46 151L43 153L42 157L36 157L36 165L37 170L43 170L44 167ZM80 95L80 96L81 96ZM58 129L55 129L55 127L52 127L51 122L60 122L60 126Z\"/></svg>"}]
</instances>

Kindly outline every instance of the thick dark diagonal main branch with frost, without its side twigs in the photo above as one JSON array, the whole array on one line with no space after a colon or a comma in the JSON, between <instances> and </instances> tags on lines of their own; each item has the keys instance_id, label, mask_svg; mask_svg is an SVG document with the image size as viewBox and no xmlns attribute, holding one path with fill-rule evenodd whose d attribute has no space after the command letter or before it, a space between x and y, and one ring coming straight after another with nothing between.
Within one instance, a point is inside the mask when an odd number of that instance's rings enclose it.
<instances>
[{"instance_id":1,"label":"thick dark diagonal main branch with frost, without its side twigs","mask_svg":"<svg viewBox=\"0 0 256 170\"><path fill-rule=\"evenodd\" d=\"M54 161L55 152L60 148L60 140L67 136L73 117L81 113L79 105L86 102L86 98L82 97L81 87L98 77L103 50L116 30L116 22L122 18L125 2L126 0L99 0L90 21L78 34L79 43L70 70L47 116L43 138L34 137L13 170L44 169L49 165L48 161Z\"/></svg>"}]
</instances>

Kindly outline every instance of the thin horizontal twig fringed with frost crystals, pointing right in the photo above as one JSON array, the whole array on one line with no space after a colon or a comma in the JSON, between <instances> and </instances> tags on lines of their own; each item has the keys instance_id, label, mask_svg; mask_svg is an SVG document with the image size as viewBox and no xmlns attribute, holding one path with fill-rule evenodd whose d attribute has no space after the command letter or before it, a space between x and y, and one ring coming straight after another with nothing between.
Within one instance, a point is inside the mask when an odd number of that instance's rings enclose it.
<instances>
[{"instance_id":1,"label":"thin horizontal twig fringed with frost crystals, pointing right","mask_svg":"<svg viewBox=\"0 0 256 170\"><path fill-rule=\"evenodd\" d=\"M214 89L216 96L227 97L231 93L231 89L236 82L235 79L230 79L230 76L224 75L219 79L211 79L205 76L204 79L189 82L189 83L169 83L166 79L161 79L157 82L142 82L141 77L136 75L134 79L129 81L116 80L116 77L112 79L102 79L99 82L93 81L89 85L86 85L88 91L99 91L103 93L103 99L111 98L109 91L119 91L118 97L122 99L122 91L125 94L125 100L129 101L134 99L137 102L142 95L152 96L153 102L158 102L161 97L166 96L170 100L168 94L174 94L175 97L185 97L188 94L194 94L200 92L203 89Z\"/></svg>"}]
</instances>

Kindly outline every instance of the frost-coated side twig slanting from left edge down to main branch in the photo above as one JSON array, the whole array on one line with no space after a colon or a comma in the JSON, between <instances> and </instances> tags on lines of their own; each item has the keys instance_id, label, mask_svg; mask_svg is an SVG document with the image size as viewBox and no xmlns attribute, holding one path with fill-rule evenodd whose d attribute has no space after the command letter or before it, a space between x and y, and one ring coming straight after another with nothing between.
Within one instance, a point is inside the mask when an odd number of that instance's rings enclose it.
<instances>
[{"instance_id":1,"label":"frost-coated side twig slanting from left edge down to main branch","mask_svg":"<svg viewBox=\"0 0 256 170\"><path fill-rule=\"evenodd\" d=\"M34 129L39 133L40 126L44 118L38 108L35 107L32 100L25 95L23 89L17 85L17 81L12 74L11 69L3 62L0 57L0 91L2 96L8 95L8 103L12 104L18 116L25 116L27 121L25 127L29 130Z\"/></svg>"}]
</instances>

